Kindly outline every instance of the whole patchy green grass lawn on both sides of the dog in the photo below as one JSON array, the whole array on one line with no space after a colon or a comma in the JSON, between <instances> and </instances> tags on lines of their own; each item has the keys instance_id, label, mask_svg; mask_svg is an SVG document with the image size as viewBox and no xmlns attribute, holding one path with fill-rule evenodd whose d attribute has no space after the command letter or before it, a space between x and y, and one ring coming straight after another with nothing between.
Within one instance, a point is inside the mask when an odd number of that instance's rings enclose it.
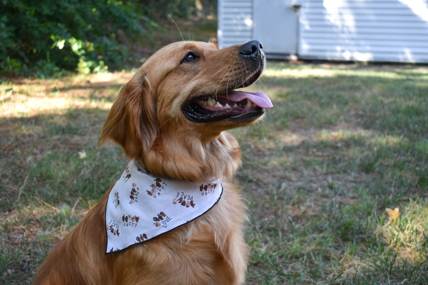
<instances>
[{"instance_id":1,"label":"whole patchy green grass lawn on both sides of the dog","mask_svg":"<svg viewBox=\"0 0 428 285\"><path fill-rule=\"evenodd\" d=\"M124 170L97 141L130 76L0 84L1 284L30 284ZM274 105L231 131L248 284L428 284L428 68L270 62L247 90Z\"/></svg>"}]
</instances>

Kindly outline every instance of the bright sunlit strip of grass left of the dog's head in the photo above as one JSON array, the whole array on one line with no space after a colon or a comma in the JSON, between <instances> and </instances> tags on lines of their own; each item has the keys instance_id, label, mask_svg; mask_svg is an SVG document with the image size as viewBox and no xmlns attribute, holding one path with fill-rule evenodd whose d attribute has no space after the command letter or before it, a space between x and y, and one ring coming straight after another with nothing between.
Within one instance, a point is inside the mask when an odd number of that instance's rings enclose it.
<instances>
[{"instance_id":1,"label":"bright sunlit strip of grass left of the dog's head","mask_svg":"<svg viewBox=\"0 0 428 285\"><path fill-rule=\"evenodd\" d=\"M130 76L130 73L97 73L86 77L76 75L66 81L3 82L0 84L0 114L6 118L28 118L65 114L70 109L108 111L117 95L117 85L125 84Z\"/></svg>"}]
</instances>

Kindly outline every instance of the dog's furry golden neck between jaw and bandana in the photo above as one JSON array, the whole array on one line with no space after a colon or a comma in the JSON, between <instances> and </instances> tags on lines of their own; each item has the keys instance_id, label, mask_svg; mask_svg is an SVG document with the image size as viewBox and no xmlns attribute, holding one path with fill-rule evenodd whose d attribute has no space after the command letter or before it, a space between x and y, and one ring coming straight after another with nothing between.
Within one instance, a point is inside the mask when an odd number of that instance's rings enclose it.
<instances>
[{"instance_id":1,"label":"dog's furry golden neck between jaw and bandana","mask_svg":"<svg viewBox=\"0 0 428 285\"><path fill-rule=\"evenodd\" d=\"M238 142L228 132L220 132L211 140L186 132L161 133L136 158L155 175L190 181L211 176L230 178L241 164Z\"/></svg>"}]
</instances>

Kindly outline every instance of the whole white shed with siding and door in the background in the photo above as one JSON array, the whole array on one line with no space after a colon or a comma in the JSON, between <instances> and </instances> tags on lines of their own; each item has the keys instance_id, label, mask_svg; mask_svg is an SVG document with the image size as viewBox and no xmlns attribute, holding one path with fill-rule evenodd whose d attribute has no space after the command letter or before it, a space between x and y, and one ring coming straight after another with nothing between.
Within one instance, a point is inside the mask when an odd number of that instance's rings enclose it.
<instances>
[{"instance_id":1,"label":"whole white shed with siding and door in the background","mask_svg":"<svg viewBox=\"0 0 428 285\"><path fill-rule=\"evenodd\" d=\"M219 0L218 43L268 58L428 63L428 0Z\"/></svg>"}]
</instances>

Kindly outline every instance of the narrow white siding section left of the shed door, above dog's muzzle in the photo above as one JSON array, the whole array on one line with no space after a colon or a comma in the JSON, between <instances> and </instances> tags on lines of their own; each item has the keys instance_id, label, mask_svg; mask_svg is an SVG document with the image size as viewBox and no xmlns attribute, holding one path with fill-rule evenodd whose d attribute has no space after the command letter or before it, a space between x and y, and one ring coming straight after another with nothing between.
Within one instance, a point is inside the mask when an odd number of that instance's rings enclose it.
<instances>
[{"instance_id":1,"label":"narrow white siding section left of the shed door, above dog's muzzle","mask_svg":"<svg viewBox=\"0 0 428 285\"><path fill-rule=\"evenodd\" d=\"M251 41L253 15L253 0L219 0L217 30L219 48Z\"/></svg>"}]
</instances>

